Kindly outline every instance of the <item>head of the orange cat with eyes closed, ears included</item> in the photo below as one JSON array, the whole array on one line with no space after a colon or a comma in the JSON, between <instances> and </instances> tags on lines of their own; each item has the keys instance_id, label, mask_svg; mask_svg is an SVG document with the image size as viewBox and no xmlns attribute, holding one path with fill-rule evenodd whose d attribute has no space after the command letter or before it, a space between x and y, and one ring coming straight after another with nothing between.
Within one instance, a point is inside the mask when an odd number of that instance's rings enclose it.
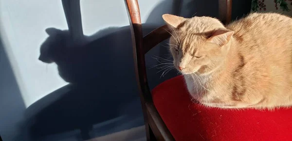
<instances>
[{"instance_id":1,"label":"head of the orange cat with eyes closed, ears included","mask_svg":"<svg viewBox=\"0 0 292 141\"><path fill-rule=\"evenodd\" d=\"M169 14L163 19L173 29L170 51L174 66L182 74L210 74L223 63L234 31L227 30L218 19Z\"/></svg>"}]
</instances>

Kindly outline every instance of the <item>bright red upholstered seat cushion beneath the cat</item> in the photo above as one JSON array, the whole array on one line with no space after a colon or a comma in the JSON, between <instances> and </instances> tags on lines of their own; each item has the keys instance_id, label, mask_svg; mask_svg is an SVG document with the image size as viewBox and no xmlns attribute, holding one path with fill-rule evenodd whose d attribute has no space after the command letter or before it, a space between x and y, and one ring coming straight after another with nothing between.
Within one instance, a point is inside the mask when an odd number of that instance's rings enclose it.
<instances>
[{"instance_id":1,"label":"bright red upholstered seat cushion beneath the cat","mask_svg":"<svg viewBox=\"0 0 292 141\"><path fill-rule=\"evenodd\" d=\"M183 76L164 81L152 96L176 141L292 141L292 109L206 108L191 101Z\"/></svg>"}]
</instances>

